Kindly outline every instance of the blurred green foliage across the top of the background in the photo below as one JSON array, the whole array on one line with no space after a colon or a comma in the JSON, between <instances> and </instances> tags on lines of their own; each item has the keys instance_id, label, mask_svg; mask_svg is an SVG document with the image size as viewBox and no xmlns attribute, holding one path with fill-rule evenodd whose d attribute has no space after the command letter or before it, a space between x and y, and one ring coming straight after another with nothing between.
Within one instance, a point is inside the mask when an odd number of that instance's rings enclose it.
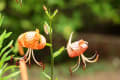
<instances>
[{"instance_id":1,"label":"blurred green foliage across the top of the background","mask_svg":"<svg viewBox=\"0 0 120 80\"><path fill-rule=\"evenodd\" d=\"M43 4L51 11L57 8L59 14L54 20L54 28L67 39L71 31L80 32L85 28L102 27L96 26L99 24L119 24L119 2L119 0L23 0L23 6L20 8L15 0L1 0L0 11L6 19L4 28L13 31L16 38L25 30L43 26L46 20Z\"/></svg>"}]
</instances>

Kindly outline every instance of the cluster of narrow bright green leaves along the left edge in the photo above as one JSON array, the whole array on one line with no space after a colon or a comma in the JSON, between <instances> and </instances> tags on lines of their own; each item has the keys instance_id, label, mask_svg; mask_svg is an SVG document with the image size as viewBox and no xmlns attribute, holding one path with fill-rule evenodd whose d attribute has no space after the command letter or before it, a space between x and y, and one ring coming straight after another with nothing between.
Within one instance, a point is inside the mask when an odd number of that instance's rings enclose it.
<instances>
[{"instance_id":1,"label":"cluster of narrow bright green leaves along the left edge","mask_svg":"<svg viewBox=\"0 0 120 80\"><path fill-rule=\"evenodd\" d=\"M20 73L20 71L12 71L13 69L16 69L17 66L16 65L11 65L8 66L8 64L5 62L11 59L11 56L9 56L9 54L13 51L13 48L11 48L12 44L13 44L13 40L11 40L5 47L3 47L3 43L4 40L7 39L10 35L12 34L12 32L6 32L6 30L4 30L4 32L0 35L0 80L8 80L10 78L15 77L16 75L18 75ZM11 74L7 75L7 76L3 76L4 73L6 71L11 70Z\"/></svg>"}]
</instances>

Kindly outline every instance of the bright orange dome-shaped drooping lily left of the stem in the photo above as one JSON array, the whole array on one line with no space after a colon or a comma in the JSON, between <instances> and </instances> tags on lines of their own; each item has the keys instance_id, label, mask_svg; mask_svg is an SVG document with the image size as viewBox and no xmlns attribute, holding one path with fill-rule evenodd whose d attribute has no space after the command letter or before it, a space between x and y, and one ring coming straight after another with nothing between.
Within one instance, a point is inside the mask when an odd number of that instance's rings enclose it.
<instances>
[{"instance_id":1,"label":"bright orange dome-shaped drooping lily left of the stem","mask_svg":"<svg viewBox=\"0 0 120 80\"><path fill-rule=\"evenodd\" d=\"M39 33L38 29L36 29L36 31L25 32L18 37L18 48L19 48L20 54L24 55L23 47L28 48L25 56L22 57L25 59L26 63L29 61L29 64L30 64L30 58L32 55L35 63L42 66L35 59L33 50L43 49L45 46L46 46L46 39L43 35Z\"/></svg>"}]
</instances>

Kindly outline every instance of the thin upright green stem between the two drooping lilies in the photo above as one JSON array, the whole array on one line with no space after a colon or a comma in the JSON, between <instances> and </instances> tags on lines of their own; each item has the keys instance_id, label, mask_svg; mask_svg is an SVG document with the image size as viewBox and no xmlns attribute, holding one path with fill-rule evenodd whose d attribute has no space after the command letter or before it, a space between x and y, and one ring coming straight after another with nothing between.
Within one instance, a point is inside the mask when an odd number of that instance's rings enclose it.
<instances>
[{"instance_id":1,"label":"thin upright green stem between the two drooping lilies","mask_svg":"<svg viewBox=\"0 0 120 80\"><path fill-rule=\"evenodd\" d=\"M53 44L52 44L52 19L50 19L50 43L52 46L50 46L50 54L51 54L51 80L54 79L54 57L53 57Z\"/></svg>"}]
</instances>

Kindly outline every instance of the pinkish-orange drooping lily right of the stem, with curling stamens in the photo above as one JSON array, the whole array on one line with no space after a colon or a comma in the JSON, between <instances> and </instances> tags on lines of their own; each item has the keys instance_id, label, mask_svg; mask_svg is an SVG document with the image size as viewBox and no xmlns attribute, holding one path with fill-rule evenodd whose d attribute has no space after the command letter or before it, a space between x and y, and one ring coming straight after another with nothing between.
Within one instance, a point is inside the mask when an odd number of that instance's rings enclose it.
<instances>
[{"instance_id":1,"label":"pinkish-orange drooping lily right of the stem, with curling stamens","mask_svg":"<svg viewBox=\"0 0 120 80\"><path fill-rule=\"evenodd\" d=\"M83 68L85 68L86 62L89 62L89 63L96 62L99 58L99 55L97 53L95 53L95 55L93 55L90 58L85 57L84 52L88 49L88 42L84 41L84 40L79 40L79 41L75 41L75 42L71 43L72 35L73 35L73 32L71 33L71 35L69 37L69 41L67 44L67 52L68 52L68 55L70 58L74 58L77 56L79 57L77 64L75 64L71 68L71 71L75 72L79 68L81 60L82 60L82 63L84 64Z\"/></svg>"}]
</instances>

